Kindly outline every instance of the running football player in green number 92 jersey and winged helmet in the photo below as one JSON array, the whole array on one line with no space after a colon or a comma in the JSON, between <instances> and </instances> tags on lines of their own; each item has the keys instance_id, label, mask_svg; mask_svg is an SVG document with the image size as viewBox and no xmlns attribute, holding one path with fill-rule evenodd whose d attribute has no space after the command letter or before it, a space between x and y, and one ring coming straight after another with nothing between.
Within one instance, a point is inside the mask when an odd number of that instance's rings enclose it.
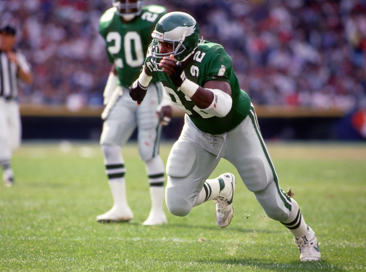
<instances>
[{"instance_id":1,"label":"running football player in green number 92 jersey and winged helmet","mask_svg":"<svg viewBox=\"0 0 366 272\"><path fill-rule=\"evenodd\" d=\"M300 260L320 260L314 231L305 223L296 201L279 186L254 107L240 90L224 48L199 41L197 22L183 12L164 15L152 37L144 70L130 87L130 95L141 103L144 87L155 79L186 112L183 131L167 162L169 211L185 216L193 207L214 200L217 223L227 227L233 216L235 176L225 173L207 180L220 158L225 158L266 214L294 234Z\"/></svg>"}]
</instances>

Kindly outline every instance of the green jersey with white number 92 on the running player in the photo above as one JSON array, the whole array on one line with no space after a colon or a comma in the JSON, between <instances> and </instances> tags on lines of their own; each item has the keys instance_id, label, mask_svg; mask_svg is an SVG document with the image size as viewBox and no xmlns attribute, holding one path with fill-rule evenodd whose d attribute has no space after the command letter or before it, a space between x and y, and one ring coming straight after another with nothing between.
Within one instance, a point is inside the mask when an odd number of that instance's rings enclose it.
<instances>
[{"instance_id":1,"label":"green jersey with white number 92 on the running player","mask_svg":"<svg viewBox=\"0 0 366 272\"><path fill-rule=\"evenodd\" d=\"M163 83L175 106L184 110L197 128L210 134L222 134L235 128L248 115L250 98L240 90L239 80L232 68L231 57L223 46L212 42L204 42L195 50L193 57L184 68L184 73L192 82L203 87L210 80L226 81L231 86L232 107L224 117L217 117L199 109L190 98L179 91L171 82L169 76L156 71L148 54L145 65L153 79Z\"/></svg>"}]
</instances>

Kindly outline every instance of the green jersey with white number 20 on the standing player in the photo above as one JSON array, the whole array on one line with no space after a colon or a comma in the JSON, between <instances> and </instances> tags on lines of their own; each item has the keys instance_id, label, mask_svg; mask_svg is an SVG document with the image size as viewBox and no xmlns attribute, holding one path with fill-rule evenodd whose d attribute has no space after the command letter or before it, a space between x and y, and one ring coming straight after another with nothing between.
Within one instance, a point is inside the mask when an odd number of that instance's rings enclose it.
<instances>
[{"instance_id":1,"label":"green jersey with white number 20 on the standing player","mask_svg":"<svg viewBox=\"0 0 366 272\"><path fill-rule=\"evenodd\" d=\"M141 73L152 41L151 33L167 10L159 5L148 5L128 23L122 22L116 10L110 8L101 16L98 30L105 39L108 59L115 64L117 84L128 88Z\"/></svg>"}]
</instances>

